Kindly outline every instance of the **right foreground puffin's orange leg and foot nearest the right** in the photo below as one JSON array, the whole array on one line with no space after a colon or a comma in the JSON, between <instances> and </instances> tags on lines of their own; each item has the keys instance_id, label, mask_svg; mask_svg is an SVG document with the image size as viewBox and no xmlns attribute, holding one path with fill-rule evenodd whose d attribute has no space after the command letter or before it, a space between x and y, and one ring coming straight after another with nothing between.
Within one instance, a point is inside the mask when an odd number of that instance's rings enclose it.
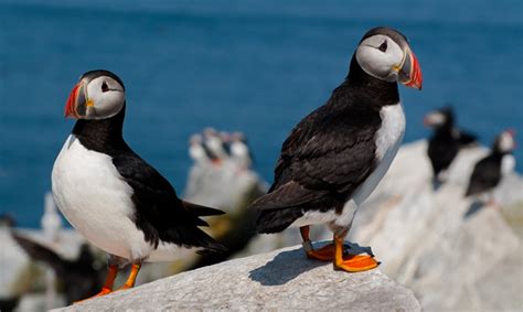
<instances>
[{"instance_id":1,"label":"right foreground puffin's orange leg and foot nearest the right","mask_svg":"<svg viewBox=\"0 0 523 312\"><path fill-rule=\"evenodd\" d=\"M348 255L348 259L343 258L343 239L345 234L334 234L334 270L344 270L348 272L360 272L374 269L380 265L371 256Z\"/></svg>"}]
</instances>

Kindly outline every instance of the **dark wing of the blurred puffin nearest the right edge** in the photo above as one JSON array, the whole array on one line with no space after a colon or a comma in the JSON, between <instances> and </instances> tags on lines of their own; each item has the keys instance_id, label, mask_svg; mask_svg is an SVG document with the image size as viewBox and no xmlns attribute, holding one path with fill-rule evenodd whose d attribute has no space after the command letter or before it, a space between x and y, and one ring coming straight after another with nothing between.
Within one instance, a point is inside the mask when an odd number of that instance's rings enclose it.
<instances>
[{"instance_id":1,"label":"dark wing of the blurred puffin nearest the right edge","mask_svg":"<svg viewBox=\"0 0 523 312\"><path fill-rule=\"evenodd\" d=\"M501 180L500 165L489 155L480 160L470 175L469 186L466 196L474 195L488 191Z\"/></svg>"}]
</instances>

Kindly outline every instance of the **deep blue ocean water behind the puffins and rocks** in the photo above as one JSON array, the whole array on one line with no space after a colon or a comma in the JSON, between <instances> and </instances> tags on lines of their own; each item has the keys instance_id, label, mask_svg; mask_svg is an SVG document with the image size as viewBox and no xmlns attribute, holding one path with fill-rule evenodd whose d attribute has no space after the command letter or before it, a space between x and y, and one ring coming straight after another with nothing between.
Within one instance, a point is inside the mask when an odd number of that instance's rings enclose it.
<instances>
[{"instance_id":1,"label":"deep blue ocean water behind the puffins and rocks","mask_svg":"<svg viewBox=\"0 0 523 312\"><path fill-rule=\"evenodd\" d=\"M405 33L424 73L423 92L401 87L405 141L425 138L424 114L447 103L482 142L504 128L523 141L523 1L367 2L0 0L0 213L39 226L74 123L65 99L94 68L124 79L125 137L179 193L188 138L207 126L244 131L270 182L290 129L375 25Z\"/></svg>"}]
</instances>

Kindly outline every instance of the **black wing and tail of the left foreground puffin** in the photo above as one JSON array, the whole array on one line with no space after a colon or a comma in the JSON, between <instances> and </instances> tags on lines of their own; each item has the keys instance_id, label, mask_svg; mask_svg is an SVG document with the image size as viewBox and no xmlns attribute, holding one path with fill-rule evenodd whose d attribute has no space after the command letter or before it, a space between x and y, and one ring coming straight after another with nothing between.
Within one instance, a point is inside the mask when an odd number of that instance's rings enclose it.
<instances>
[{"instance_id":1,"label":"black wing and tail of the left foreground puffin","mask_svg":"<svg viewBox=\"0 0 523 312\"><path fill-rule=\"evenodd\" d=\"M153 246L158 246L161 240L184 247L204 247L207 251L224 249L198 228L207 226L199 215L223 212L183 202L169 181L131 151L115 157L113 163L134 190L135 223L143 230L146 240Z\"/></svg>"}]
</instances>

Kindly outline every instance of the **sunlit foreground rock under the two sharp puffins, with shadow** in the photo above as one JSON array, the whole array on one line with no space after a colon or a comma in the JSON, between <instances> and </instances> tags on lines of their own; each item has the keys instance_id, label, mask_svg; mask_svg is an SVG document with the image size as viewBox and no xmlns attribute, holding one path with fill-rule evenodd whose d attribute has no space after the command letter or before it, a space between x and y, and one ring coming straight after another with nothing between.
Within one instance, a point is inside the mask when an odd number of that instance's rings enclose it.
<instances>
[{"instance_id":1,"label":"sunlit foreground rock under the two sharp puffins, with shadow","mask_svg":"<svg viewBox=\"0 0 523 312\"><path fill-rule=\"evenodd\" d=\"M420 311L413 292L380 269L346 273L299 247L183 272L60 311ZM56 310L57 311L57 310Z\"/></svg>"}]
</instances>

